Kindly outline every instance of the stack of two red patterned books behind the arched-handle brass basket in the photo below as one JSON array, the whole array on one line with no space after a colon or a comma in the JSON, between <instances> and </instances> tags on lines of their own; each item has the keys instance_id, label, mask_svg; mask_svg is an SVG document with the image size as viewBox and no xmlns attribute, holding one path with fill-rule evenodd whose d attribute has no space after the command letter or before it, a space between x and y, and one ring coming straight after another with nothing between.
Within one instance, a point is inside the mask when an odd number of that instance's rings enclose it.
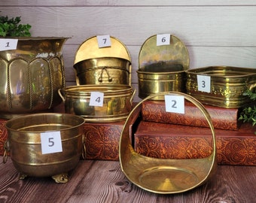
<instances>
[{"instance_id":1,"label":"stack of two red patterned books behind the arched-handle brass basket","mask_svg":"<svg viewBox=\"0 0 256 203\"><path fill-rule=\"evenodd\" d=\"M195 159L212 152L212 132L200 109L190 102L184 114L166 112L165 102L142 103L142 121L134 133L134 148L161 159ZM212 118L218 164L256 165L256 126L238 120L239 109L204 105Z\"/></svg>"}]
</instances>

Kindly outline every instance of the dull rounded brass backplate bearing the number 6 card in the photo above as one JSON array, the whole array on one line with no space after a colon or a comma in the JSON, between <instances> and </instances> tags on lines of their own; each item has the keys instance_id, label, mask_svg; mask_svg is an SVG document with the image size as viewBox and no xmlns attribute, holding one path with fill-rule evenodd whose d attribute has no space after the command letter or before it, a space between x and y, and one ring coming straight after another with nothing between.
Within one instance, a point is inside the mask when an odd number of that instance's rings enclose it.
<instances>
[{"instance_id":1,"label":"dull rounded brass backplate bearing the number 6 card","mask_svg":"<svg viewBox=\"0 0 256 203\"><path fill-rule=\"evenodd\" d=\"M157 46L157 35L151 36L142 44L139 52L139 68L145 69L157 63L179 64L187 70L189 68L187 47L174 35L170 35L168 45ZM169 71L172 71L172 66Z\"/></svg>"}]
</instances>

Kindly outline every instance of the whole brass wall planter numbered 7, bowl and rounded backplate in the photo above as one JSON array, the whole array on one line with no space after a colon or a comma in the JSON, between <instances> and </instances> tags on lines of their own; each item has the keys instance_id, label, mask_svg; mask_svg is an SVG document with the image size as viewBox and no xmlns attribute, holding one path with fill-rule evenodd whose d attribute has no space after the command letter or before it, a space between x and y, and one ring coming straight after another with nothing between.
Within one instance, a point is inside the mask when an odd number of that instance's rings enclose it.
<instances>
[{"instance_id":1,"label":"whole brass wall planter numbered 7, bowl and rounded backplate","mask_svg":"<svg viewBox=\"0 0 256 203\"><path fill-rule=\"evenodd\" d=\"M84 41L75 54L74 68L78 85L132 84L131 57L126 46L110 37L111 46L99 48L97 37Z\"/></svg>"}]
</instances>

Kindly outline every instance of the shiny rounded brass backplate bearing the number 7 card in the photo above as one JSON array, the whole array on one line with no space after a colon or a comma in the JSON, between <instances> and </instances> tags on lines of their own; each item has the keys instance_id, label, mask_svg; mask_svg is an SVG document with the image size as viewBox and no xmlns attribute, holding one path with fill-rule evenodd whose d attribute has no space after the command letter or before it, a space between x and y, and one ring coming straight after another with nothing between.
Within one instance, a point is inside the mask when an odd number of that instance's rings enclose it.
<instances>
[{"instance_id":1,"label":"shiny rounded brass backplate bearing the number 7 card","mask_svg":"<svg viewBox=\"0 0 256 203\"><path fill-rule=\"evenodd\" d=\"M102 57L114 57L131 61L130 53L126 46L117 38L111 37L111 47L99 48L97 36L84 41L75 54L74 65L86 59L96 59Z\"/></svg>"}]
</instances>

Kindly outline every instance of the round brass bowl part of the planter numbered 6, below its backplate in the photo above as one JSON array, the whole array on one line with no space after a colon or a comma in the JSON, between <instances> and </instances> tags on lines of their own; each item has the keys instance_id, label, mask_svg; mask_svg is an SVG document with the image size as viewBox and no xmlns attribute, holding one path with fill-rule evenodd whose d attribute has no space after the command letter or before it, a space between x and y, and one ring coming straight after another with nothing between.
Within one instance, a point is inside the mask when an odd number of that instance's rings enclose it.
<instances>
[{"instance_id":1,"label":"round brass bowl part of the planter numbered 6, below its backplate","mask_svg":"<svg viewBox=\"0 0 256 203\"><path fill-rule=\"evenodd\" d=\"M139 80L139 98L158 92L185 92L186 74L180 64L157 62L145 65L137 70ZM154 97L152 100L159 100Z\"/></svg>"}]
</instances>

